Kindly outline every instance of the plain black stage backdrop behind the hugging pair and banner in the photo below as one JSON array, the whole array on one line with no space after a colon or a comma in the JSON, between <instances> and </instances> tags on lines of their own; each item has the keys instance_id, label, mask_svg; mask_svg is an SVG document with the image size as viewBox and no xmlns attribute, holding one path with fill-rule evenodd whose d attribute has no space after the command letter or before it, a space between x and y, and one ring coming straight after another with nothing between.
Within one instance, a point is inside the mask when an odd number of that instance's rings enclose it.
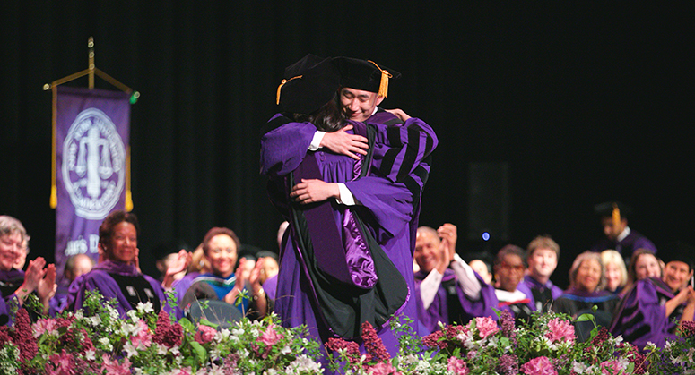
<instances>
[{"instance_id":1,"label":"plain black stage backdrop behind the hugging pair and banner","mask_svg":"<svg viewBox=\"0 0 695 375\"><path fill-rule=\"evenodd\" d=\"M131 144L146 272L156 273L158 244L195 246L211 226L276 250L281 217L258 175L259 129L277 110L284 67L308 53L403 73L384 107L439 134L421 224L456 224L460 252L484 247L467 237L479 163L506 168L481 198L507 194L495 208L507 208L508 238L488 247L552 234L561 286L601 235L600 201L632 205L631 227L657 246L693 242L695 33L684 5L375 3L4 1L0 213L27 226L30 258L52 259L51 95L41 88L86 69L93 36L96 66L142 93Z\"/></svg>"}]
</instances>

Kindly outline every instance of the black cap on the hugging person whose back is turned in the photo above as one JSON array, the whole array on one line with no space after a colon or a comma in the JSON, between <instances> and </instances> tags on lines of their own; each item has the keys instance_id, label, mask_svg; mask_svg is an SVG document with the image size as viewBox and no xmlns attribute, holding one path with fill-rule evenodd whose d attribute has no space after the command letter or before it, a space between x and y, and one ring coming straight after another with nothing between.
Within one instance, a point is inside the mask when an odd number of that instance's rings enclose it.
<instances>
[{"instance_id":1,"label":"black cap on the hugging person whose back is turned","mask_svg":"<svg viewBox=\"0 0 695 375\"><path fill-rule=\"evenodd\" d=\"M277 103L283 112L310 114L328 103L339 87L340 73L331 58L309 54L285 68Z\"/></svg>"}]
</instances>

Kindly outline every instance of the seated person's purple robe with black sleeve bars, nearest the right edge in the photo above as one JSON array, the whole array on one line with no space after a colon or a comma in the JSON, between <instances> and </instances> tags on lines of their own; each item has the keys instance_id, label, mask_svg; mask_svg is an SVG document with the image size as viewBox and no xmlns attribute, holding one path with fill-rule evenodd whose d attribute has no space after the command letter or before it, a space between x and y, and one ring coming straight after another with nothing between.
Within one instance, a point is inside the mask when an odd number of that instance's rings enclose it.
<instances>
[{"instance_id":1,"label":"seated person's purple robe with black sleeve bars, nearest the right edge","mask_svg":"<svg viewBox=\"0 0 695 375\"><path fill-rule=\"evenodd\" d=\"M648 342L664 347L675 339L675 321L682 317L684 304L666 316L666 301L674 297L671 289L656 277L639 280L623 297L613 317L611 333L643 350Z\"/></svg>"}]
</instances>

